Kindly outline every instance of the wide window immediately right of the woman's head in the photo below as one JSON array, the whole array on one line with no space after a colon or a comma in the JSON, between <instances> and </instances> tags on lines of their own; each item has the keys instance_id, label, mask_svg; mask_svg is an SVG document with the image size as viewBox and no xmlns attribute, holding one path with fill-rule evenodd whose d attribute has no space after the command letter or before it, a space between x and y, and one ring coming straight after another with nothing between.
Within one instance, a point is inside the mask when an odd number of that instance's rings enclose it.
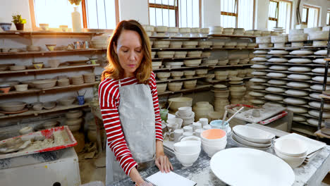
<instances>
[{"instance_id":1,"label":"wide window immediately right of the woman's head","mask_svg":"<svg viewBox=\"0 0 330 186\"><path fill-rule=\"evenodd\" d=\"M149 0L149 23L200 27L200 0Z\"/></svg>"}]
</instances>

